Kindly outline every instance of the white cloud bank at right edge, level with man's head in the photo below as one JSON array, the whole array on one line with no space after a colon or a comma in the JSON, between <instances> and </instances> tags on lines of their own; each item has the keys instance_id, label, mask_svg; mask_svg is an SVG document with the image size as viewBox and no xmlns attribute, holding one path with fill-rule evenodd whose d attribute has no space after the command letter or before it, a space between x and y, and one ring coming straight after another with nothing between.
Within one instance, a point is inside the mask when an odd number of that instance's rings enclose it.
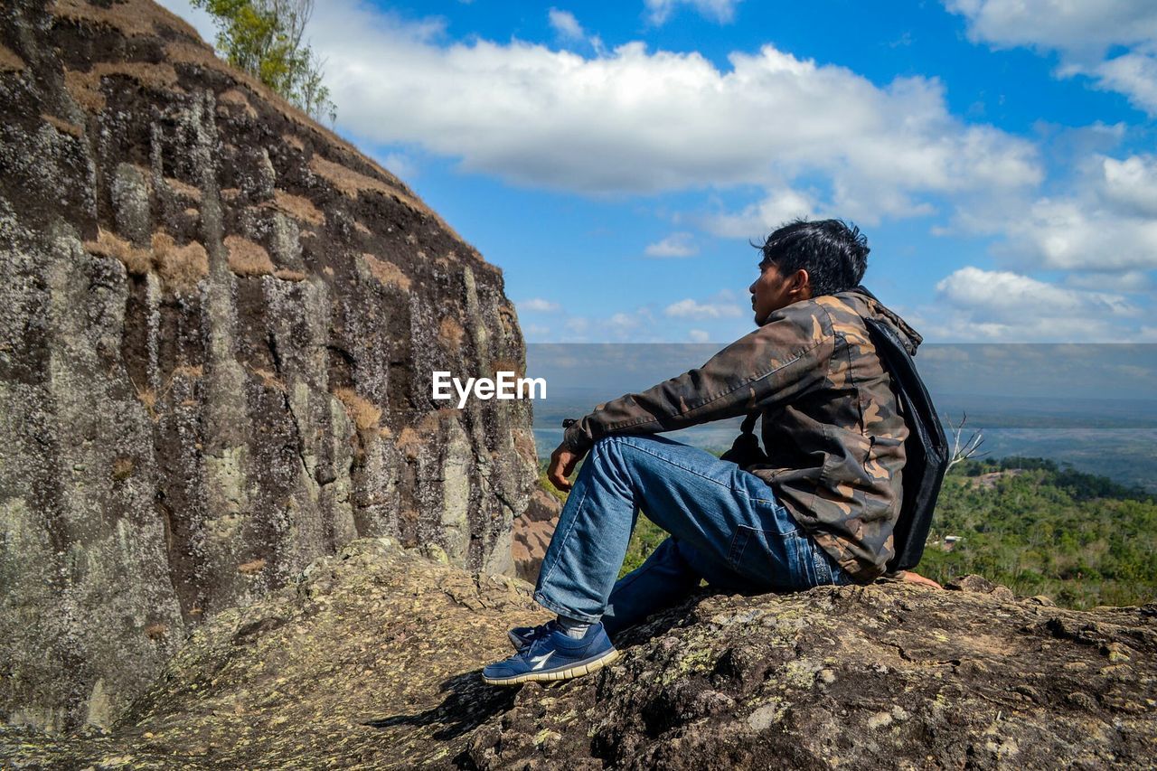
<instances>
[{"instance_id":1,"label":"white cloud bank at right edge, level with man's head","mask_svg":"<svg viewBox=\"0 0 1157 771\"><path fill-rule=\"evenodd\" d=\"M1128 342L1144 338L1157 269L1157 157L1091 154L1071 192L978 204L965 230L1003 236L994 254L1016 270L960 269L938 304L912 320L930 338ZM1062 271L1056 282L1026 276Z\"/></svg>"}]
</instances>

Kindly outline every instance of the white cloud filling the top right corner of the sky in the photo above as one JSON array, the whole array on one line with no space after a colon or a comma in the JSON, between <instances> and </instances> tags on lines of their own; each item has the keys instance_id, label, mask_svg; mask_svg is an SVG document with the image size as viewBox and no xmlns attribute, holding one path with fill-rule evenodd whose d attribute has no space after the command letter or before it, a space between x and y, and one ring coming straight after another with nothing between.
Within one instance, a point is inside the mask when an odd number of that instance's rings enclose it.
<instances>
[{"instance_id":1,"label":"white cloud filling the top right corner of the sky","mask_svg":"<svg viewBox=\"0 0 1157 771\"><path fill-rule=\"evenodd\" d=\"M1061 76L1084 74L1157 115L1157 3L1152 0L946 0L968 37L996 47L1057 51ZM1112 58L1106 54L1123 47Z\"/></svg>"}]
</instances>

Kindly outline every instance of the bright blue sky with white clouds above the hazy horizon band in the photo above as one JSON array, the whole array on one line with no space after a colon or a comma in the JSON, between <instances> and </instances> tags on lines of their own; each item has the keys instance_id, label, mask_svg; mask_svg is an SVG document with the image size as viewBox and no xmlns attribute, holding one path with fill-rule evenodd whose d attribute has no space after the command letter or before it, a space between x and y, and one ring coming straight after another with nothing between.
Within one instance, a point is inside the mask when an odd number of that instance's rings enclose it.
<instances>
[{"instance_id":1,"label":"bright blue sky with white clouds above the hazy horizon band","mask_svg":"<svg viewBox=\"0 0 1157 771\"><path fill-rule=\"evenodd\" d=\"M1157 342L1151 0L326 0L308 34L337 131L530 342L729 342L797 215L856 222L929 340Z\"/></svg>"}]
</instances>

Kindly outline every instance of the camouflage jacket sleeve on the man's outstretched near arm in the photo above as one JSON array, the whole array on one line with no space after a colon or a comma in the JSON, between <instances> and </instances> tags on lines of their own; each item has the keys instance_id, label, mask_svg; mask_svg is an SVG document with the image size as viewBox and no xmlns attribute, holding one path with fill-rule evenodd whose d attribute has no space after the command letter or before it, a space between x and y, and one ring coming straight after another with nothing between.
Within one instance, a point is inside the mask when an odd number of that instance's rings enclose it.
<instances>
[{"instance_id":1,"label":"camouflage jacket sleeve on the man's outstretched near arm","mask_svg":"<svg viewBox=\"0 0 1157 771\"><path fill-rule=\"evenodd\" d=\"M833 339L823 307L794 303L702 367L599 405L562 443L581 455L603 436L675 431L795 399L827 377Z\"/></svg>"}]
</instances>

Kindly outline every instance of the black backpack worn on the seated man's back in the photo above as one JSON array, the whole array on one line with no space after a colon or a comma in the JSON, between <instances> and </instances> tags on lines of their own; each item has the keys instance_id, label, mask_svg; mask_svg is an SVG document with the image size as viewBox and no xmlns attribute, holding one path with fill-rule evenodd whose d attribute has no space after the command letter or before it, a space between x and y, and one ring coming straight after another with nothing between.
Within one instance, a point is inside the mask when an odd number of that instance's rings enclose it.
<instances>
[{"instance_id":1,"label":"black backpack worn on the seated man's back","mask_svg":"<svg viewBox=\"0 0 1157 771\"><path fill-rule=\"evenodd\" d=\"M864 289L861 291L868 294ZM948 472L949 447L939 416L936 414L933 399L907 348L887 324L876 318L864 318L864 324L880 364L892 375L900 414L908 426L908 438L904 442L907 456L902 475L904 498L900 501L900 516L892 530L896 555L887 563L887 572L892 573L911 570L920 564L936 499ZM753 431L759 414L760 411L757 410L744 418L743 433L735 440L731 449L722 455L722 460L740 467L766 462L767 456L760 449Z\"/></svg>"}]
</instances>

